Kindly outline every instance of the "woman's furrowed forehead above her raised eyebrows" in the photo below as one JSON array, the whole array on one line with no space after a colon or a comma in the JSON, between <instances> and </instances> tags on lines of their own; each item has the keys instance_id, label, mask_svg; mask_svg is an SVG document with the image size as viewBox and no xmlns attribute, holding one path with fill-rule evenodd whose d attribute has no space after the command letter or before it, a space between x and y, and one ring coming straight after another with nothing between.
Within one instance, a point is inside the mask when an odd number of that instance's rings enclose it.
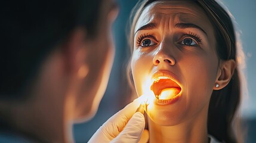
<instances>
[{"instance_id":1,"label":"woman's furrowed forehead above her raised eyebrows","mask_svg":"<svg viewBox=\"0 0 256 143\"><path fill-rule=\"evenodd\" d=\"M202 29L211 26L205 12L193 1L156 1L144 8L134 30L150 22L160 24L162 20L172 23L193 23Z\"/></svg>"}]
</instances>

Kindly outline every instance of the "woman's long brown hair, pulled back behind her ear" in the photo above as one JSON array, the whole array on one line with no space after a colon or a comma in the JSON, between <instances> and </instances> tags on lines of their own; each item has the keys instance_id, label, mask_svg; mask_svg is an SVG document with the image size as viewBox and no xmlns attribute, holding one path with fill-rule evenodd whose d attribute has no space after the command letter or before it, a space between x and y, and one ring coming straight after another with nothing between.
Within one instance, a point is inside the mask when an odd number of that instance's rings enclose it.
<instances>
[{"instance_id":1,"label":"woman's long brown hair, pulled back behind her ear","mask_svg":"<svg viewBox=\"0 0 256 143\"><path fill-rule=\"evenodd\" d=\"M135 24L144 8L155 1L157 0L139 1L131 13L128 37L131 51L133 50ZM214 34L215 40L217 41L216 51L218 61L235 60L236 65L238 65L228 85L223 89L212 92L208 110L208 133L219 141L243 142L242 130L240 129L239 122L237 122L239 117L236 113L242 96L239 64L244 64L242 62L243 56L238 58L237 50L240 52L240 55L243 55L243 51L242 49L238 49L242 47L238 47L241 45L236 41L235 29L229 15L230 13L228 10L224 10L224 8L214 0L198 0L193 2L205 11L205 14L208 16L215 30ZM127 74L132 83L130 64ZM235 120L236 122L234 122Z\"/></svg>"}]
</instances>

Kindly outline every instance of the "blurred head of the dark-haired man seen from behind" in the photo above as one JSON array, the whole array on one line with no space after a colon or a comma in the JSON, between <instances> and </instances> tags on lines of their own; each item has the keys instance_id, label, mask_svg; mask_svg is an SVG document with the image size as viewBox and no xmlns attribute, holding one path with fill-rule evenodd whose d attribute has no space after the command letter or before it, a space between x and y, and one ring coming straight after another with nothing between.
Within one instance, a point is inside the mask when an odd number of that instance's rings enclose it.
<instances>
[{"instance_id":1,"label":"blurred head of the dark-haired man seen from behind","mask_svg":"<svg viewBox=\"0 0 256 143\"><path fill-rule=\"evenodd\" d=\"M1 7L0 100L55 98L72 105L76 119L93 115L113 63L114 2L17 1Z\"/></svg>"}]
</instances>

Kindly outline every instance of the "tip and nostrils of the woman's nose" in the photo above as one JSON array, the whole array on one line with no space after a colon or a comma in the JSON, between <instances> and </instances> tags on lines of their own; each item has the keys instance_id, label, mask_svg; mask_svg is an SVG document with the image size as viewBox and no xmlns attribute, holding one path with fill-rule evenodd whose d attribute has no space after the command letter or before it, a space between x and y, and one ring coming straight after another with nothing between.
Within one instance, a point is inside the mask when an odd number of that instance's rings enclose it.
<instances>
[{"instance_id":1,"label":"tip and nostrils of the woman's nose","mask_svg":"<svg viewBox=\"0 0 256 143\"><path fill-rule=\"evenodd\" d=\"M162 50L159 50L153 58L153 64L155 66L158 66L159 64L168 64L169 66L174 66L175 63L175 58Z\"/></svg>"}]
</instances>

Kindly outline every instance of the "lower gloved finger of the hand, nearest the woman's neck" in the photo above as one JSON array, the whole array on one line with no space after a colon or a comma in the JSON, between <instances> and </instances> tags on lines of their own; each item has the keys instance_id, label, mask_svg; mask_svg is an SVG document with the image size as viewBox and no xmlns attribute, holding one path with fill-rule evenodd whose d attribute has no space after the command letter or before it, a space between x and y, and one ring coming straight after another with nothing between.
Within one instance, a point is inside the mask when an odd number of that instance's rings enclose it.
<instances>
[{"instance_id":1,"label":"lower gloved finger of the hand, nearest the woman's neck","mask_svg":"<svg viewBox=\"0 0 256 143\"><path fill-rule=\"evenodd\" d=\"M138 142L145 127L144 115L136 112L113 142Z\"/></svg>"}]
</instances>

